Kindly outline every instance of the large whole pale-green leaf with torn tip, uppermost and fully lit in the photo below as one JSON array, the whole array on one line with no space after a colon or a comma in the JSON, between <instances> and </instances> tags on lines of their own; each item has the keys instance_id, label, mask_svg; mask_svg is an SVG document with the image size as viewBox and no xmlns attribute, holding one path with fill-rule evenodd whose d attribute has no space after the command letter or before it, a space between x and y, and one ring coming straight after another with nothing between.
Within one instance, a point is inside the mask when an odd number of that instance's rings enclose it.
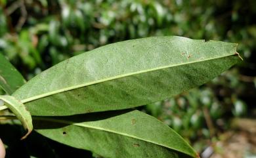
<instances>
[{"instance_id":1,"label":"large whole pale-green leaf with torn tip, uppermost and fully lit","mask_svg":"<svg viewBox=\"0 0 256 158\"><path fill-rule=\"evenodd\" d=\"M32 115L133 108L213 79L240 60L236 46L176 36L114 43L43 71L13 96Z\"/></svg>"}]
</instances>

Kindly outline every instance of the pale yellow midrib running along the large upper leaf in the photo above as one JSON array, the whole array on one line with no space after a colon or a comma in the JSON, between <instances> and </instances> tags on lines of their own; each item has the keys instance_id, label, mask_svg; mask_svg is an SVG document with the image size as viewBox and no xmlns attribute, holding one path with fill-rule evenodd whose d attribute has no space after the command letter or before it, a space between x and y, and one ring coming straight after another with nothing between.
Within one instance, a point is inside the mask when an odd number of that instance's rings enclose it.
<instances>
[{"instance_id":1,"label":"pale yellow midrib running along the large upper leaf","mask_svg":"<svg viewBox=\"0 0 256 158\"><path fill-rule=\"evenodd\" d=\"M105 82L105 81L119 79L119 78L122 78L122 77L131 76L131 75L137 75L139 73L146 73L146 72L150 72L150 71L156 71L156 70L159 70L159 69L173 68L173 67L176 67L176 66L182 66L182 65L186 65L186 64L194 64L196 62L205 62L205 61L208 61L208 60L215 60L215 59L218 59L218 58L224 58L224 57L227 57L227 56L234 56L234 55L236 55L236 54L227 54L227 55L224 55L224 56L217 56L217 57L207 58L207 59L203 59L203 60L196 60L196 61L192 61L192 62L184 62L184 63L181 63L181 64L175 64L175 65L169 65L169 66L160 66L158 68L146 69L146 70L141 70L141 71L137 71L137 72L133 72L133 73L125 73L123 75L117 75L117 76L114 76L114 77L108 77L106 79L99 79L99 80L89 82L89 83L84 83L84 84L81 84L81 85L75 85L75 86L71 86L71 87L66 87L64 89L58 89L58 90L54 90L54 91L51 91L51 92L46 92L44 94L39 94L37 96L32 96L30 98L26 98L26 99L23 99L23 100L20 100L20 101L24 104L24 103L31 102L31 101L37 100L39 98L44 98L46 96L51 96L53 94L57 94L57 93L60 93L60 92L66 92L66 91L69 91L69 90L72 90L72 89L79 89L81 87L86 87L86 86L89 86L89 85L95 85L97 83L102 83L102 82Z\"/></svg>"}]
</instances>

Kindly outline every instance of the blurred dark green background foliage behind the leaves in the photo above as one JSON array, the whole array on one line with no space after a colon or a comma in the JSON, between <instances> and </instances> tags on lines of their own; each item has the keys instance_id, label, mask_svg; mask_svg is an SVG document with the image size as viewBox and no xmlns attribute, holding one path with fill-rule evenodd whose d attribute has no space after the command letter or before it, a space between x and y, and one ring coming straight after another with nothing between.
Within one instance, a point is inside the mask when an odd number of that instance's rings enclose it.
<instances>
[{"instance_id":1,"label":"blurred dark green background foliage behind the leaves","mask_svg":"<svg viewBox=\"0 0 256 158\"><path fill-rule=\"evenodd\" d=\"M141 109L198 152L221 139L234 118L255 119L254 0L0 0L0 5L0 53L28 80L71 56L127 39L180 35L239 43L244 62L198 89ZM53 157L65 157L58 149L70 149L46 141Z\"/></svg>"}]
</instances>

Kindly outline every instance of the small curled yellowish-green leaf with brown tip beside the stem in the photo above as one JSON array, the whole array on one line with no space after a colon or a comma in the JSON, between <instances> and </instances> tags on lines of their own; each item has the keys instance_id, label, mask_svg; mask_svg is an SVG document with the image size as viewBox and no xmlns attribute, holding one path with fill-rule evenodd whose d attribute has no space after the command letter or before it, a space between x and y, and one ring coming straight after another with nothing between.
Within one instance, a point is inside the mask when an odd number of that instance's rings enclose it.
<instances>
[{"instance_id":1,"label":"small curled yellowish-green leaf with brown tip beside the stem","mask_svg":"<svg viewBox=\"0 0 256 158\"><path fill-rule=\"evenodd\" d=\"M16 100L13 96L0 95L0 100L5 102L5 105L11 109L12 113L14 113L14 115L16 115L16 117L22 122L23 127L28 130L27 134L22 137L22 139L26 138L33 130L32 116L30 115L30 112L26 110L26 107L22 102Z\"/></svg>"}]
</instances>

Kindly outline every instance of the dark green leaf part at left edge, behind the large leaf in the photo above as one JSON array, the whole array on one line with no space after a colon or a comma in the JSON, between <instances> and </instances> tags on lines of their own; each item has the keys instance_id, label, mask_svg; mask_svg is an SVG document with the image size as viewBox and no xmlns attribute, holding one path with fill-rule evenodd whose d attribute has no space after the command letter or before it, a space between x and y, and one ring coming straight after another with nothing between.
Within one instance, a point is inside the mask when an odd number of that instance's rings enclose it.
<instances>
[{"instance_id":1,"label":"dark green leaf part at left edge, behind the large leaf","mask_svg":"<svg viewBox=\"0 0 256 158\"><path fill-rule=\"evenodd\" d=\"M12 94L16 89L26 83L26 80L17 71L14 66L0 54L0 87L7 92Z\"/></svg>"}]
</instances>

